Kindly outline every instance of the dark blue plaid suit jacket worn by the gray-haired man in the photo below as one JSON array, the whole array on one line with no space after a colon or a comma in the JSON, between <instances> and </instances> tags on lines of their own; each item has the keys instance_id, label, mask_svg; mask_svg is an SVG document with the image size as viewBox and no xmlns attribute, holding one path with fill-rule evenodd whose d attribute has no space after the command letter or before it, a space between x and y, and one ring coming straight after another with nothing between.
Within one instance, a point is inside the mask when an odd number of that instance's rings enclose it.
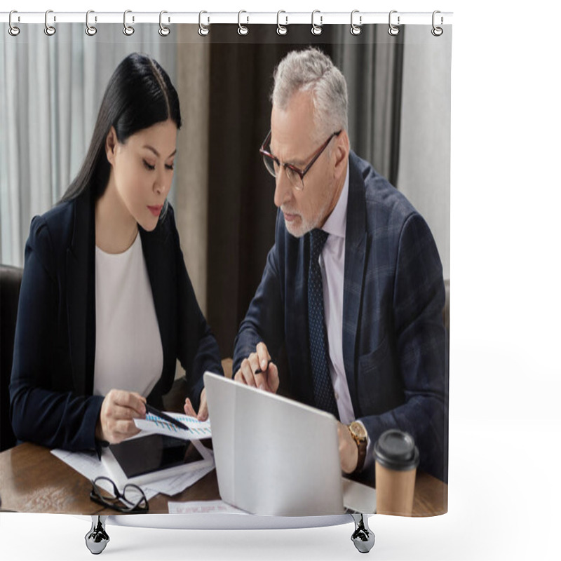
<instances>
[{"instance_id":1,"label":"dark blue plaid suit jacket worn by the gray-haired man","mask_svg":"<svg viewBox=\"0 0 561 561\"><path fill-rule=\"evenodd\" d=\"M356 154L349 155L343 355L356 418L375 442L388 428L410 433L420 467L446 480L447 372L442 265L431 231L403 194ZM278 212L275 245L241 323L234 372L267 345L285 344L290 372L280 383L314 404L307 318L309 234L291 236ZM285 386L286 387L286 386ZM374 481L374 468L361 478Z\"/></svg>"}]
</instances>

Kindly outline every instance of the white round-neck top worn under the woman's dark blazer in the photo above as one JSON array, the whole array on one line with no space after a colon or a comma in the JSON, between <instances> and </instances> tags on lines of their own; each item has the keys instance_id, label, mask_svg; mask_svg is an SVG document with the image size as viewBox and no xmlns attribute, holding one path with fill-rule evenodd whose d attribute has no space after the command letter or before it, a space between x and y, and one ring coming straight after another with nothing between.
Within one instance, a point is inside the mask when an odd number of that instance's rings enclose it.
<instances>
[{"instance_id":1,"label":"white round-neck top worn under the woman's dark blazer","mask_svg":"<svg viewBox=\"0 0 561 561\"><path fill-rule=\"evenodd\" d=\"M93 394L112 388L148 396L160 379L163 350L140 234L123 253L95 248Z\"/></svg>"}]
</instances>

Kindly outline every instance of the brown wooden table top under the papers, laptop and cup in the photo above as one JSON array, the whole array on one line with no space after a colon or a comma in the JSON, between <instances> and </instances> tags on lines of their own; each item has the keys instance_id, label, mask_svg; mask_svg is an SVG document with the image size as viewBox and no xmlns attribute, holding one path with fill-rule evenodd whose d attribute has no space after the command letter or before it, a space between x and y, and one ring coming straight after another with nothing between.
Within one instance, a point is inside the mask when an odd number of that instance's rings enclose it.
<instances>
[{"instance_id":1,"label":"brown wooden table top under the papers, laptop and cup","mask_svg":"<svg viewBox=\"0 0 561 561\"><path fill-rule=\"evenodd\" d=\"M48 448L26 442L0 454L1 511L25 513L107 514L90 501L91 483L50 453ZM168 501L219 499L216 471L175 496L158 494L149 501L149 513L168 513ZM448 486L431 475L417 473L414 516L447 511Z\"/></svg>"}]
</instances>

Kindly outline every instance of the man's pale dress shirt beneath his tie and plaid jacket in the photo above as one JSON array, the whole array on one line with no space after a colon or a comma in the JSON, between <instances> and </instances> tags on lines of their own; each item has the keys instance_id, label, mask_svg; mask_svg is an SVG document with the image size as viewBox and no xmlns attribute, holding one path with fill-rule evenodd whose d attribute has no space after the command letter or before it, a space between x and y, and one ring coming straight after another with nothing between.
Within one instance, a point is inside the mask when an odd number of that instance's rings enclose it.
<instances>
[{"instance_id":1,"label":"man's pale dress shirt beneath his tie and plaid jacket","mask_svg":"<svg viewBox=\"0 0 561 561\"><path fill-rule=\"evenodd\" d=\"M343 292L345 281L345 234L346 208L349 201L349 163L346 166L345 183L337 205L323 224L322 230L329 236L319 257L323 282L323 313L329 346L329 371L339 420L350 424L356 419L351 402L349 384L343 363ZM360 421L359 421L360 422ZM362 423L361 423L362 424ZM363 425L364 426L364 425ZM372 457L372 442L368 439L365 467Z\"/></svg>"}]
</instances>

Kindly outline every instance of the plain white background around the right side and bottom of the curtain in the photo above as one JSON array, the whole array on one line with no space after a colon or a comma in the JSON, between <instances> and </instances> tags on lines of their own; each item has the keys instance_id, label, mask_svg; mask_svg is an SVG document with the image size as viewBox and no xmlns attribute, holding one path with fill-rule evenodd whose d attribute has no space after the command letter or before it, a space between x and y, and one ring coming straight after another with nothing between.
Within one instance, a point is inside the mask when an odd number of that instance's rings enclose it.
<instances>
[{"instance_id":1,"label":"plain white background around the right side and bottom of the curtain","mask_svg":"<svg viewBox=\"0 0 561 561\"><path fill-rule=\"evenodd\" d=\"M376 560L557 559L561 333L557 161L558 4L482 0L398 4L334 0L27 0L20 11L454 11L449 513L379 516ZM3 8L8 9L8 8ZM506 8L501 8L506 10ZM548 25L545 22L548 22ZM6 33L5 29L1 30ZM57 515L0 515L3 559L90 559L88 525ZM112 560L357 559L351 525L194 532L109 527ZM58 541L58 546L53 542ZM367 557L365 557L367 558Z\"/></svg>"}]
</instances>

